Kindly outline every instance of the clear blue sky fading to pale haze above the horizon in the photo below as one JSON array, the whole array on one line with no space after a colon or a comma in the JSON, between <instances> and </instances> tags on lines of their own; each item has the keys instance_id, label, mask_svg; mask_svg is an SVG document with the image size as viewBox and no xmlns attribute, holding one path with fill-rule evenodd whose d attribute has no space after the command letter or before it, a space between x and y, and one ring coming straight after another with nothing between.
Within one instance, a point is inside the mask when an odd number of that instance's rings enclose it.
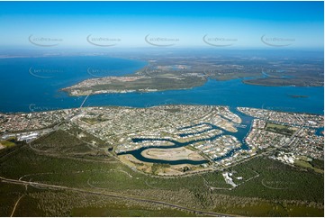
<instances>
[{"instance_id":1,"label":"clear blue sky fading to pale haze above the horizon","mask_svg":"<svg viewBox=\"0 0 325 218\"><path fill-rule=\"evenodd\" d=\"M323 50L323 4L0 2L0 46Z\"/></svg>"}]
</instances>

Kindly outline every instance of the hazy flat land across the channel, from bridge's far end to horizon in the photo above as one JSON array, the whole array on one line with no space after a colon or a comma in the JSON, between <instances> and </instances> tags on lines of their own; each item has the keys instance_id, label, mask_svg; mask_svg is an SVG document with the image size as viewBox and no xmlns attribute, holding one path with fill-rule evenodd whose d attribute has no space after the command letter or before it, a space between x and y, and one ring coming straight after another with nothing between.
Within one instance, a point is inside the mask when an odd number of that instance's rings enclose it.
<instances>
[{"instance_id":1,"label":"hazy flat land across the channel, from bridge's far end to horizon","mask_svg":"<svg viewBox=\"0 0 325 218\"><path fill-rule=\"evenodd\" d=\"M61 91L74 96L158 92L203 86L209 79L241 79L245 84L257 86L324 86L323 66L312 59L279 62L269 58L247 62L245 55L221 58L209 52L204 57L175 52L161 53L155 58L142 55L138 59L147 61L148 65L133 74L105 77L87 69L90 78Z\"/></svg>"}]
</instances>

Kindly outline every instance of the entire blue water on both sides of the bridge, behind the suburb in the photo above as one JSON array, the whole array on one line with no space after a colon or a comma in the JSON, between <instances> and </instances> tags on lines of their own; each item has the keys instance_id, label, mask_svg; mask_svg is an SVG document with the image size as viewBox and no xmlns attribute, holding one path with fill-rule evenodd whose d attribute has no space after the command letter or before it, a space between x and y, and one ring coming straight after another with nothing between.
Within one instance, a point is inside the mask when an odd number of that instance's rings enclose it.
<instances>
[{"instance_id":1,"label":"entire blue water on both sides of the bridge, behind the suburb","mask_svg":"<svg viewBox=\"0 0 325 218\"><path fill-rule=\"evenodd\" d=\"M86 78L131 74L146 64L144 61L108 57L0 59L0 112L38 112L78 107L85 96L71 97L59 89ZM293 98L291 95L308 97ZM84 106L148 107L159 104L248 106L323 114L324 88L252 86L243 84L240 79L209 80L203 86L187 90L91 95Z\"/></svg>"}]
</instances>

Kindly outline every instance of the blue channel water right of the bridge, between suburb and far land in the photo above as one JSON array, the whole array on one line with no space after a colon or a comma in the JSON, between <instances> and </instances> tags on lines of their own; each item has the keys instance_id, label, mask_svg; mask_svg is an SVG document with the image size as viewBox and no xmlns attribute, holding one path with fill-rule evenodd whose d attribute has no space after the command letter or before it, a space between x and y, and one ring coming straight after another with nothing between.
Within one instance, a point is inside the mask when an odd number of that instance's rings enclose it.
<instances>
[{"instance_id":1,"label":"blue channel water right of the bridge, between suburb and far land","mask_svg":"<svg viewBox=\"0 0 325 218\"><path fill-rule=\"evenodd\" d=\"M293 98L290 95L308 95ZM205 85L187 90L155 93L93 95L85 105L127 105L147 107L159 104L211 104L230 107L247 106L285 112L323 114L323 87L251 86L240 79L209 80Z\"/></svg>"}]
</instances>

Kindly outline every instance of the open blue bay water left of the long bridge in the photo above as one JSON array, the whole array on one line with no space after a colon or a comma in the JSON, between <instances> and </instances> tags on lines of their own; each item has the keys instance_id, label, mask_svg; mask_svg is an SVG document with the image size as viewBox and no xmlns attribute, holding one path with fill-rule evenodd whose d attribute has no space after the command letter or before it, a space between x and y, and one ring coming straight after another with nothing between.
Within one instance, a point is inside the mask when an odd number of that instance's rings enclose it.
<instances>
[{"instance_id":1,"label":"open blue bay water left of the long bridge","mask_svg":"<svg viewBox=\"0 0 325 218\"><path fill-rule=\"evenodd\" d=\"M78 107L84 97L69 97L59 90L87 78L131 74L146 64L89 56L0 59L0 112Z\"/></svg>"}]
</instances>

